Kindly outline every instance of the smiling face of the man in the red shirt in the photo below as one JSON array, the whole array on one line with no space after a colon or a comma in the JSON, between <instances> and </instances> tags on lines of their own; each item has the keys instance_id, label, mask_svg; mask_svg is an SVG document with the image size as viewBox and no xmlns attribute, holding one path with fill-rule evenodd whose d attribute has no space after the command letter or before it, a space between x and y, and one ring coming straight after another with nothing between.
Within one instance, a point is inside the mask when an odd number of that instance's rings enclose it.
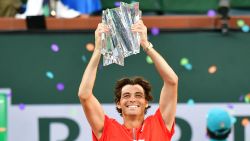
<instances>
[{"instance_id":1,"label":"smiling face of the man in the red shirt","mask_svg":"<svg viewBox=\"0 0 250 141\"><path fill-rule=\"evenodd\" d=\"M122 116L144 116L148 101L142 86L125 85L121 90L121 98L117 108L122 110Z\"/></svg>"}]
</instances>

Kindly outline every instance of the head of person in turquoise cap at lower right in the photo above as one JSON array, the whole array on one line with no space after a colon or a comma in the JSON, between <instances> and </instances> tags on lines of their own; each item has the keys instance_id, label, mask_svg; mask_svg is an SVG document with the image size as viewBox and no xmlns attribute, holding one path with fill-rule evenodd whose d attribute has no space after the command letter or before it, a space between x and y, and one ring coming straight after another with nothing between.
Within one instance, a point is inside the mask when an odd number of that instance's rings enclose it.
<instances>
[{"instance_id":1,"label":"head of person in turquoise cap at lower right","mask_svg":"<svg viewBox=\"0 0 250 141\"><path fill-rule=\"evenodd\" d=\"M233 126L232 119L224 109L211 109L207 115L207 135L210 141L226 141Z\"/></svg>"}]
</instances>

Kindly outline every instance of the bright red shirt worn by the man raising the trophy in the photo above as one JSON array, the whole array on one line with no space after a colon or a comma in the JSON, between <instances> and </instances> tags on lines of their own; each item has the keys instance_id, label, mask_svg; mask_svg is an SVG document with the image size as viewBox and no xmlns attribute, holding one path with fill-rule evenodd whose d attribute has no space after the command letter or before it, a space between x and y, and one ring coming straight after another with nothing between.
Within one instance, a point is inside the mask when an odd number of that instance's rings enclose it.
<instances>
[{"instance_id":1,"label":"bright red shirt worn by the man raising the trophy","mask_svg":"<svg viewBox=\"0 0 250 141\"><path fill-rule=\"evenodd\" d=\"M174 134L174 124L169 131L162 119L160 109L147 117L140 128L127 129L115 119L105 116L104 129L99 140L92 132L93 141L170 141Z\"/></svg>"}]
</instances>

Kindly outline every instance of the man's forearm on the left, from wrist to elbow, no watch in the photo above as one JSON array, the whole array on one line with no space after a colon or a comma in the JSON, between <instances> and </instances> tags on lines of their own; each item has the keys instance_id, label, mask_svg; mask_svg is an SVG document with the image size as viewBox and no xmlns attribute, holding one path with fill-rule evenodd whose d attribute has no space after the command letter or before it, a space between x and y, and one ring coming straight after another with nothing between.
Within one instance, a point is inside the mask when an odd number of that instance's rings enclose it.
<instances>
[{"instance_id":1,"label":"man's forearm on the left, from wrist to elbow, no watch","mask_svg":"<svg viewBox=\"0 0 250 141\"><path fill-rule=\"evenodd\" d=\"M96 49L93 52L82 77L82 81L78 91L78 96L81 99L86 99L90 94L92 94L100 57L100 50Z\"/></svg>"}]
</instances>

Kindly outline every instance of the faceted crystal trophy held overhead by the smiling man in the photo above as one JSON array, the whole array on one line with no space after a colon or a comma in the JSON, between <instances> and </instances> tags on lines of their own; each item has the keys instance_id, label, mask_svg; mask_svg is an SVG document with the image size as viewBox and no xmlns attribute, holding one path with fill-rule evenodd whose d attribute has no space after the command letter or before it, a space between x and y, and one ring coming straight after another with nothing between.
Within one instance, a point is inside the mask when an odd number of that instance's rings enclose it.
<instances>
[{"instance_id":1,"label":"faceted crystal trophy held overhead by the smiling man","mask_svg":"<svg viewBox=\"0 0 250 141\"><path fill-rule=\"evenodd\" d=\"M120 3L120 7L104 10L102 23L110 28L102 34L103 66L116 63L124 66L124 58L140 52L140 36L131 25L141 18L139 3Z\"/></svg>"}]
</instances>

